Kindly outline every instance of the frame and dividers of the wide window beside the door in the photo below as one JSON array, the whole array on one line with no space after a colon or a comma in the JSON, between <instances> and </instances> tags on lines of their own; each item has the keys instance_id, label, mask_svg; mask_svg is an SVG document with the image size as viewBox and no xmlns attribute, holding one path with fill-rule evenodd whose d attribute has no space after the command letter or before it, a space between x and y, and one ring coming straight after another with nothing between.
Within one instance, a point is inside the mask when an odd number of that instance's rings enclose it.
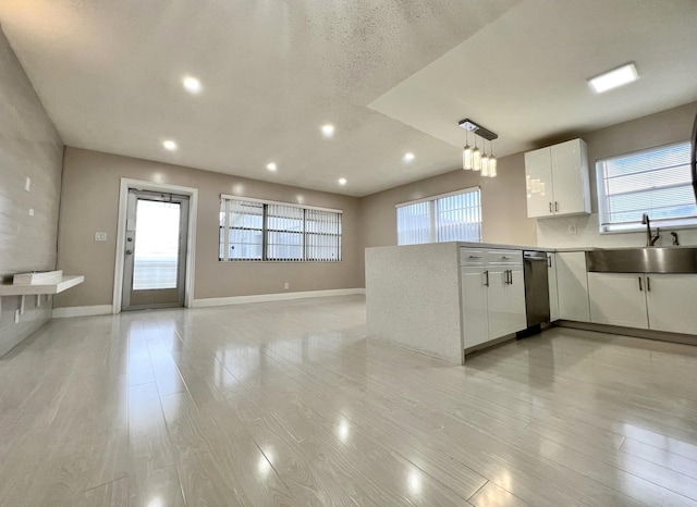
<instances>
[{"instance_id":1,"label":"frame and dividers of the wide window beside the door","mask_svg":"<svg viewBox=\"0 0 697 507\"><path fill-rule=\"evenodd\" d=\"M232 258L225 258L225 256L223 255L221 257L221 253L225 253L230 251L230 224L229 224L229 220L230 220L230 210L229 210L229 206L227 205L230 201L240 201L240 202L249 202L249 203L257 203L261 206L261 257L255 257L255 258L243 258L243 259L232 259ZM283 258L283 257L271 257L269 255L269 233L271 232L282 232L279 231L277 228L274 228L273 231L271 231L269 228L269 207L270 206L276 206L276 207L289 207L289 208L297 208L299 210L302 210L302 232L301 237L301 250L303 252L303 257L297 258L297 257L293 257L293 258ZM224 208L224 209L223 209ZM308 220L308 211L309 210L314 210L314 211L319 211L319 212L325 212L325 213L331 213L334 215L335 219L335 234L323 234L325 236L331 236L331 237L335 237L337 238L337 245L335 245L335 251L337 251L337 258L335 259L328 259L328 258L318 258L317 256L314 256L313 252L310 251L310 248L308 247L308 242L307 242L307 236L308 236L308 231L307 231L307 220ZM222 220L221 220L222 219ZM343 234L343 210L339 210L339 209L333 209L333 208L322 208L322 207L317 207L317 206L305 206L305 205L297 205L294 202L283 202L283 201L276 201L276 200L268 200L268 199L258 199L258 198L254 198L254 197L244 197L244 196L233 196L233 195L229 195L229 194L221 194L220 195L220 210L219 210L219 235L218 235L218 262L342 262L342 234ZM257 231L255 228L255 231ZM222 243L220 243L222 240ZM222 247L222 249L221 249ZM333 248L333 245L330 246L331 248Z\"/></svg>"}]
</instances>

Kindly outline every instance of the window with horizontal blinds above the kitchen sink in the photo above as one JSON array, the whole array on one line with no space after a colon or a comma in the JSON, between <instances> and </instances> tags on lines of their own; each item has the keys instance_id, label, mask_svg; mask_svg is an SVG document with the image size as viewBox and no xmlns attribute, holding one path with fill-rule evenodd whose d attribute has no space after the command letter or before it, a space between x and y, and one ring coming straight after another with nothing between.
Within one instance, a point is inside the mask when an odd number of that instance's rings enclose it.
<instances>
[{"instance_id":1,"label":"window with horizontal blinds above the kitchen sink","mask_svg":"<svg viewBox=\"0 0 697 507\"><path fill-rule=\"evenodd\" d=\"M599 160L600 232L640 231L641 214L657 226L697 225L689 143Z\"/></svg>"}]
</instances>

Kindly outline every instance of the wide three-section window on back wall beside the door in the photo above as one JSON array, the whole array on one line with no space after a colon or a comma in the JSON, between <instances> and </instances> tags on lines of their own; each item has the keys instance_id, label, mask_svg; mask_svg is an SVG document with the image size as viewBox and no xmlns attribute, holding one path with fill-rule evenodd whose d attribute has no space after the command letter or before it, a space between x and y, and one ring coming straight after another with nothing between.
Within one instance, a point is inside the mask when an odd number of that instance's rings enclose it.
<instances>
[{"instance_id":1,"label":"wide three-section window on back wall beside the door","mask_svg":"<svg viewBox=\"0 0 697 507\"><path fill-rule=\"evenodd\" d=\"M221 196L219 260L341 260L339 210Z\"/></svg>"}]
</instances>

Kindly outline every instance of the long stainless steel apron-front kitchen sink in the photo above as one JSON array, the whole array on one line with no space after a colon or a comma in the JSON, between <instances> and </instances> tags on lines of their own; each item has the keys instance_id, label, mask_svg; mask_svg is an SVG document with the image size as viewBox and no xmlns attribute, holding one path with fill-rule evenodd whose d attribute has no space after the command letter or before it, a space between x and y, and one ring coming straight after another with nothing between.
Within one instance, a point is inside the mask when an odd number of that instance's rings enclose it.
<instances>
[{"instance_id":1,"label":"long stainless steel apron-front kitchen sink","mask_svg":"<svg viewBox=\"0 0 697 507\"><path fill-rule=\"evenodd\" d=\"M601 273L697 273L697 247L591 250L586 265Z\"/></svg>"}]
</instances>

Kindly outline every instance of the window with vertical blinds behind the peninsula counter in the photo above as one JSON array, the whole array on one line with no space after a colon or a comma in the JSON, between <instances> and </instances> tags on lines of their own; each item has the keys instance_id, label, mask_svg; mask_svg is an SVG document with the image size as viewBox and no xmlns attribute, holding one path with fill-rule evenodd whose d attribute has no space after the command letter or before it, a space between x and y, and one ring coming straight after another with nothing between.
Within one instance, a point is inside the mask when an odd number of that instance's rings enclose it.
<instances>
[{"instance_id":1,"label":"window with vertical blinds behind the peninsula counter","mask_svg":"<svg viewBox=\"0 0 697 507\"><path fill-rule=\"evenodd\" d=\"M396 206L399 245L481 242L479 187Z\"/></svg>"}]
</instances>

